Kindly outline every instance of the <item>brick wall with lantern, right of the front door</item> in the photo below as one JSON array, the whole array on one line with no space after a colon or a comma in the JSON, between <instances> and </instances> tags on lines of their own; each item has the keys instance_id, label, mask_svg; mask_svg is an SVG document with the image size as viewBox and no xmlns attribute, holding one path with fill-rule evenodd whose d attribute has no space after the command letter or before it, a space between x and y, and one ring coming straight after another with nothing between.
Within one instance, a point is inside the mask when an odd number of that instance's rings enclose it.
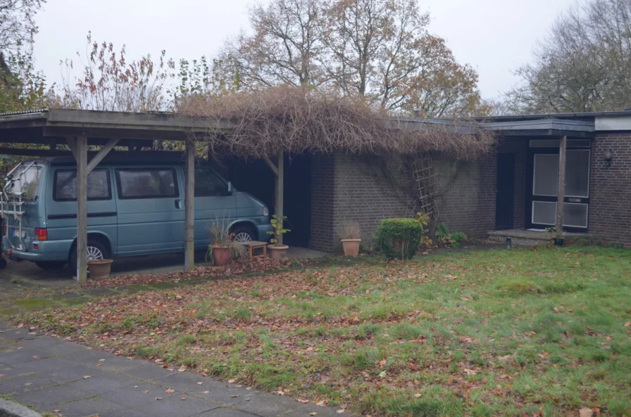
<instances>
[{"instance_id":1,"label":"brick wall with lantern, right of the front door","mask_svg":"<svg viewBox=\"0 0 631 417\"><path fill-rule=\"evenodd\" d=\"M608 149L611 167L603 160ZM631 248L631 133L596 135L589 193L589 233Z\"/></svg>"}]
</instances>

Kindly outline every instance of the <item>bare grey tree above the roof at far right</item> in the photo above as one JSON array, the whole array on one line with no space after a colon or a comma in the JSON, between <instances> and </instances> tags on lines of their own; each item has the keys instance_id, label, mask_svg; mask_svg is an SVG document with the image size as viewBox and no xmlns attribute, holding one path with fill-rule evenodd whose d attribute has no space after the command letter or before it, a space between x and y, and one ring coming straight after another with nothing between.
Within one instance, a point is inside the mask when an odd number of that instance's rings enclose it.
<instances>
[{"instance_id":1,"label":"bare grey tree above the roof at far right","mask_svg":"<svg viewBox=\"0 0 631 417\"><path fill-rule=\"evenodd\" d=\"M620 110L631 103L631 1L588 0L561 14L508 97L518 113Z\"/></svg>"}]
</instances>

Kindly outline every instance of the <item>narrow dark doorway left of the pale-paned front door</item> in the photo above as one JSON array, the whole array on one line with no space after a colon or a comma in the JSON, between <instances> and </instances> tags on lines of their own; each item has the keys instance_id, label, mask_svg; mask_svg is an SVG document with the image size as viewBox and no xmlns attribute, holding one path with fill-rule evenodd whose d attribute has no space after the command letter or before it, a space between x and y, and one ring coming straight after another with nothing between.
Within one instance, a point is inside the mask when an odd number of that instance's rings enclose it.
<instances>
[{"instance_id":1,"label":"narrow dark doorway left of the pale-paned front door","mask_svg":"<svg viewBox=\"0 0 631 417\"><path fill-rule=\"evenodd\" d=\"M513 229L515 212L515 155L497 155L497 189L495 205L495 229Z\"/></svg>"}]
</instances>

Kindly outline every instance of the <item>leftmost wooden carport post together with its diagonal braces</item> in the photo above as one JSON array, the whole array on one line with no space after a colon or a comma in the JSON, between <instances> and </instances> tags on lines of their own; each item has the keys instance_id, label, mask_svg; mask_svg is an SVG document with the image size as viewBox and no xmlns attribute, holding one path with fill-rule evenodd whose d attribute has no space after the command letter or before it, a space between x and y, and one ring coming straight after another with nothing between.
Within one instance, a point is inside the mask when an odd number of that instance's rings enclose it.
<instances>
[{"instance_id":1,"label":"leftmost wooden carport post together with its diagonal braces","mask_svg":"<svg viewBox=\"0 0 631 417\"><path fill-rule=\"evenodd\" d=\"M87 136L66 138L68 147L77 160L77 281L87 281L87 176L92 169L116 146L118 139L111 139L94 158L87 163Z\"/></svg>"}]
</instances>

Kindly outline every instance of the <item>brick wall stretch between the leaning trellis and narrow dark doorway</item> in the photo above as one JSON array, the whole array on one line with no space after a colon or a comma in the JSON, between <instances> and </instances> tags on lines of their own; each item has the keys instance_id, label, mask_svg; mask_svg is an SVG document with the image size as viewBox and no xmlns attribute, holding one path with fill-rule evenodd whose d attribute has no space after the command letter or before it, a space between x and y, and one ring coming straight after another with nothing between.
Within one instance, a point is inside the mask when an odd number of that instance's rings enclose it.
<instances>
[{"instance_id":1,"label":"brick wall stretch between the leaning trellis and narrow dark doorway","mask_svg":"<svg viewBox=\"0 0 631 417\"><path fill-rule=\"evenodd\" d=\"M475 162L437 160L439 222L449 231L486 238L495 228L496 169L494 153Z\"/></svg>"}]
</instances>

